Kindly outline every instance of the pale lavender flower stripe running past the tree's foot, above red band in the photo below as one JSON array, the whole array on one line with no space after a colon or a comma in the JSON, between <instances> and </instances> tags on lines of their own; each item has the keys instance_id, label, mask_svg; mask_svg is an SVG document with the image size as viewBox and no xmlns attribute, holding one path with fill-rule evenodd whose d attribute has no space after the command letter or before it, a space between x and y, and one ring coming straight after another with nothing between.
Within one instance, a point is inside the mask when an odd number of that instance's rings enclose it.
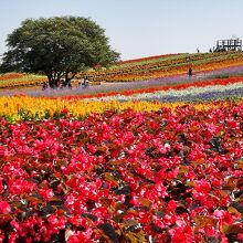
<instances>
[{"instance_id":1,"label":"pale lavender flower stripe running past the tree's foot, above red band","mask_svg":"<svg viewBox=\"0 0 243 243\"><path fill-rule=\"evenodd\" d=\"M197 74L191 77L189 77L188 75L173 75L173 76L160 77L160 78L155 78L155 80L146 80L146 81L134 81L134 82L113 83L113 84L102 83L101 85L91 85L88 88L74 87L72 89L70 88L61 88L61 89L54 89L54 91L45 89L44 92L39 87L32 91L24 91L24 94L28 96L33 96L33 97L66 96L70 98L75 98L75 97L78 98L78 96L83 97L83 95L85 95L84 97L92 97L95 94L99 94L101 96L103 96L104 93L116 94L116 93L122 93L123 91L131 91L131 92L141 91L148 87L175 86L175 85L186 84L186 83L189 83L189 84L194 83L197 85L197 83L203 83L207 80L208 81L212 81L213 78L215 80L218 76L224 77L221 80L225 80L225 76L232 76L233 74L242 76L242 72L243 72L243 65L228 67L228 68L223 68L220 71L218 70L218 71L207 72L202 74ZM234 82L234 80L230 82ZM220 83L220 84L223 84L223 83ZM1 96L10 96L10 95L18 95L18 94L23 94L23 92L15 91L15 89L14 91L0 91ZM72 97L72 96L75 96L75 97Z\"/></svg>"}]
</instances>

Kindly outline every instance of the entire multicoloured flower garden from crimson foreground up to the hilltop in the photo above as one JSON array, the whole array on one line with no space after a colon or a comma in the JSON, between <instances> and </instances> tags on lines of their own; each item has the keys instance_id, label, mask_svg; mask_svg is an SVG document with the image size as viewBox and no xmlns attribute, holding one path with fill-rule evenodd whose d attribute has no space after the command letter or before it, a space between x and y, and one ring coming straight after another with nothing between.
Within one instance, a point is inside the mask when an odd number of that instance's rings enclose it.
<instances>
[{"instance_id":1,"label":"entire multicoloured flower garden from crimson foreground up to the hilltop","mask_svg":"<svg viewBox=\"0 0 243 243\"><path fill-rule=\"evenodd\" d=\"M1 91L0 242L242 242L243 61L213 54Z\"/></svg>"}]
</instances>

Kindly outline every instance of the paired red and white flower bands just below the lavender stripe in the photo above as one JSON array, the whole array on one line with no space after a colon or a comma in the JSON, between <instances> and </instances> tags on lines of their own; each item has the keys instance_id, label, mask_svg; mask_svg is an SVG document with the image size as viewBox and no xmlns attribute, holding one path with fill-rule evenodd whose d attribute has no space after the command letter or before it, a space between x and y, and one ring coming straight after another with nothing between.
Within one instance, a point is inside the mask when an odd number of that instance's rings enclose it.
<instances>
[{"instance_id":1,"label":"paired red and white flower bands just below the lavender stripe","mask_svg":"<svg viewBox=\"0 0 243 243\"><path fill-rule=\"evenodd\" d=\"M181 102L188 99L188 97L194 97L194 99L204 101L207 95L211 95L216 92L218 97L221 95L221 99L224 97L242 97L243 94L243 77L230 77L205 81L188 81L187 83L162 85L156 87L125 89L120 92L98 93L98 94L81 94L63 96L67 99L83 98L84 101L160 101L168 102L169 98L177 98ZM223 95L221 94L223 93ZM226 93L226 94L225 94ZM202 98L199 98L202 95ZM173 101L175 102L175 101Z\"/></svg>"}]
</instances>

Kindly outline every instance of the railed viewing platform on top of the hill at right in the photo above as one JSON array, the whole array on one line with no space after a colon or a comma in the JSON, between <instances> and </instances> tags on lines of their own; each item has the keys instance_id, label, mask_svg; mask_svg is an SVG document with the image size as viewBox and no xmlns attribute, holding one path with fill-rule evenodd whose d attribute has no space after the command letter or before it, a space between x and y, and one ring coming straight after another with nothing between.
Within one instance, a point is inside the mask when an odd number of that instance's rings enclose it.
<instances>
[{"instance_id":1,"label":"railed viewing platform on top of the hill at right","mask_svg":"<svg viewBox=\"0 0 243 243\"><path fill-rule=\"evenodd\" d=\"M242 40L232 38L229 40L218 40L213 52L242 51Z\"/></svg>"}]
</instances>

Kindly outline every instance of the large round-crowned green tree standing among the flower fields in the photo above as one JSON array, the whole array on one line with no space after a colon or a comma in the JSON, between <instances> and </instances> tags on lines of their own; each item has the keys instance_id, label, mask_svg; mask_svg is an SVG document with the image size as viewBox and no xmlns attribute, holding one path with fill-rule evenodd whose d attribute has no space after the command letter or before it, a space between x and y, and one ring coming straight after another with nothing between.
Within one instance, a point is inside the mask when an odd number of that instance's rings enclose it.
<instances>
[{"instance_id":1,"label":"large round-crowned green tree standing among the flower fields","mask_svg":"<svg viewBox=\"0 0 243 243\"><path fill-rule=\"evenodd\" d=\"M119 59L105 30L91 19L55 17L27 19L7 38L1 72L43 72L51 87L80 71Z\"/></svg>"}]
</instances>

